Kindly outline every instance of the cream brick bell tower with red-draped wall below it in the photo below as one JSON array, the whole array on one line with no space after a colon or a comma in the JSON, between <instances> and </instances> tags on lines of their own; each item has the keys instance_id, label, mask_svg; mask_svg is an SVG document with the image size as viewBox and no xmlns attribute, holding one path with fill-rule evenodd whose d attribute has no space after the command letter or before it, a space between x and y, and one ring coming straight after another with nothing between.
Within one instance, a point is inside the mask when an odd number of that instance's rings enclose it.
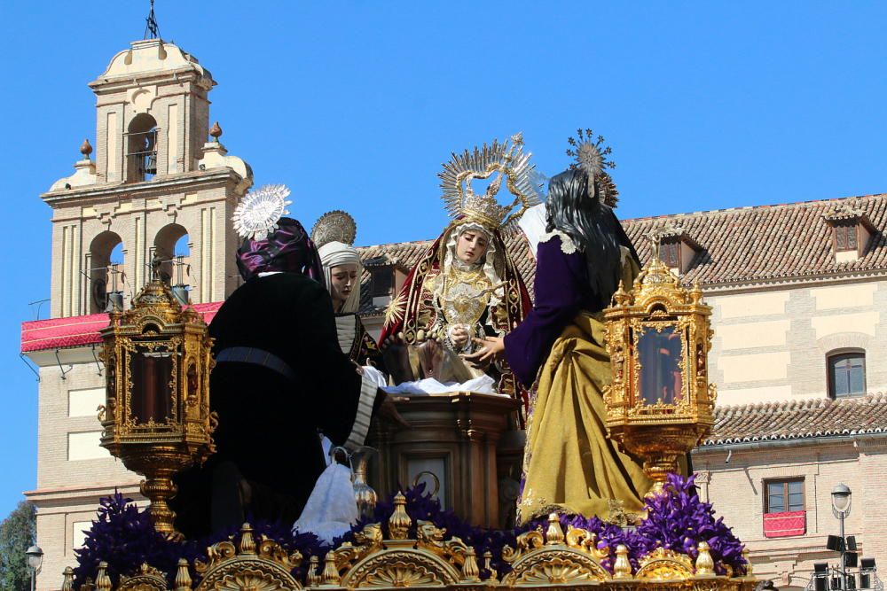
<instances>
[{"instance_id":1,"label":"cream brick bell tower with red-draped wall below it","mask_svg":"<svg viewBox=\"0 0 887 591\"><path fill-rule=\"evenodd\" d=\"M51 319L22 328L40 377L37 482L27 493L45 553L40 589L59 587L102 496L120 488L141 500L137 475L98 445L105 385L95 331L106 310L128 305L154 259L208 317L239 284L229 221L252 171L227 154L221 129L209 136L215 85L177 46L132 43L90 82L95 159L84 143L74 175L41 196L52 208Z\"/></svg>"}]
</instances>

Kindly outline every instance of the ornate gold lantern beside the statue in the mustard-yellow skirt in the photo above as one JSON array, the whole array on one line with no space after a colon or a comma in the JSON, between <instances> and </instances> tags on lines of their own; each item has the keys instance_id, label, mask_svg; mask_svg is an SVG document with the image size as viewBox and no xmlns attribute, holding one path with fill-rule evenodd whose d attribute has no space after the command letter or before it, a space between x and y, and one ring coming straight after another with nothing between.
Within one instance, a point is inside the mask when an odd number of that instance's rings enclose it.
<instances>
[{"instance_id":1,"label":"ornate gold lantern beside the statue in the mustard-yellow skirt","mask_svg":"<svg viewBox=\"0 0 887 591\"><path fill-rule=\"evenodd\" d=\"M708 381L711 308L698 285L681 286L653 244L632 291L620 285L604 313L613 372L604 400L609 437L643 459L660 489L679 456L710 433L716 393Z\"/></svg>"}]
</instances>

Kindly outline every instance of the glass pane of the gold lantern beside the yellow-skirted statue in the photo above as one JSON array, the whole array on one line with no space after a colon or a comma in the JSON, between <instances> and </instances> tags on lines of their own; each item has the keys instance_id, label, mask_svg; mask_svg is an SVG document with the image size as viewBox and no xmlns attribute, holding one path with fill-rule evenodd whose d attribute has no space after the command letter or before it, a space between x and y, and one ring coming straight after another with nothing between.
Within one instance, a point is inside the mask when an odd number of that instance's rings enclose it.
<instances>
[{"instance_id":1,"label":"glass pane of the gold lantern beside the yellow-skirted statue","mask_svg":"<svg viewBox=\"0 0 887 591\"><path fill-rule=\"evenodd\" d=\"M677 327L645 327L638 338L640 397L644 404L675 404L683 399L683 346Z\"/></svg>"}]
</instances>

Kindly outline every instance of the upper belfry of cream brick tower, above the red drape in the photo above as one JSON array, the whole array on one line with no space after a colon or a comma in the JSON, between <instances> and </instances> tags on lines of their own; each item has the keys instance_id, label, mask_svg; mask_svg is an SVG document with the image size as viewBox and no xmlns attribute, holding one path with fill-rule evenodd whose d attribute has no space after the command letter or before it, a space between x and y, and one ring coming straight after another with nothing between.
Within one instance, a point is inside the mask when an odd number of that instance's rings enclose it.
<instances>
[{"instance_id":1,"label":"upper belfry of cream brick tower, above the red drape","mask_svg":"<svg viewBox=\"0 0 887 591\"><path fill-rule=\"evenodd\" d=\"M227 155L218 124L210 129L212 74L176 45L145 39L89 86L95 159L87 140L75 174L41 196L53 209L52 317L128 302L155 255L192 303L224 299L238 284L230 219L253 174Z\"/></svg>"}]
</instances>

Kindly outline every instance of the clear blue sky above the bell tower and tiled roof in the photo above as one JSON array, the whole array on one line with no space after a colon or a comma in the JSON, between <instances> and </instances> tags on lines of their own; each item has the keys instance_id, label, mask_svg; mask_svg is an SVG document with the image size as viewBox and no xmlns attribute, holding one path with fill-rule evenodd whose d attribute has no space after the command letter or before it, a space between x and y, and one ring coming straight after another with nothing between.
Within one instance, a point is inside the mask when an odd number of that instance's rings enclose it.
<instances>
[{"instance_id":1,"label":"clear blue sky above the bell tower and tiled roof","mask_svg":"<svg viewBox=\"0 0 887 591\"><path fill-rule=\"evenodd\" d=\"M17 359L50 296L38 197L95 144L95 79L142 38L147 2L4 2L0 156L7 288L0 516L35 486L36 384ZM451 151L523 131L546 175L577 127L607 137L622 217L887 191L887 4L171 2L161 35L218 86L211 118L255 181L357 243L435 236ZM45 307L44 307L45 314Z\"/></svg>"}]
</instances>

